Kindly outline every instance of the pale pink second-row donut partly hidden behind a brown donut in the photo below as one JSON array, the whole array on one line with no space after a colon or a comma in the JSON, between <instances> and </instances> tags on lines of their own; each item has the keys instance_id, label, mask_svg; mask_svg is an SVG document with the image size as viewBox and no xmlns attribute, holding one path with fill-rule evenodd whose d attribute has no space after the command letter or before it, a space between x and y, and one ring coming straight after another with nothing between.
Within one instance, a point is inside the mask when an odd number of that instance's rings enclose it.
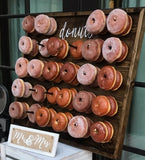
<instances>
[{"instance_id":1,"label":"pale pink second-row donut partly hidden behind a brown donut","mask_svg":"<svg viewBox=\"0 0 145 160\"><path fill-rule=\"evenodd\" d=\"M40 41L40 45L39 45L39 53L41 54L41 56L43 57L49 57L50 54L47 50L47 41L48 41L48 38L46 39L42 39Z\"/></svg>"}]
</instances>

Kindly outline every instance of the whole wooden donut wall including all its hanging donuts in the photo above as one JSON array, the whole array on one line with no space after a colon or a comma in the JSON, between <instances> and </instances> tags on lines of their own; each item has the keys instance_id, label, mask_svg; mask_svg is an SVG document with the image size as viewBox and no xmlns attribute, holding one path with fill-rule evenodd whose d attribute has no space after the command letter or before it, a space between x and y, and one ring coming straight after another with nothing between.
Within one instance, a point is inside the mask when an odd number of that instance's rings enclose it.
<instances>
[{"instance_id":1,"label":"whole wooden donut wall including all its hanging donuts","mask_svg":"<svg viewBox=\"0 0 145 160\"><path fill-rule=\"evenodd\" d=\"M39 25L26 31L23 21L26 35L19 40L22 57L12 84L16 100L9 107L12 123L57 132L63 143L119 158L143 40L144 9L47 13L33 15L30 21Z\"/></svg>"}]
</instances>

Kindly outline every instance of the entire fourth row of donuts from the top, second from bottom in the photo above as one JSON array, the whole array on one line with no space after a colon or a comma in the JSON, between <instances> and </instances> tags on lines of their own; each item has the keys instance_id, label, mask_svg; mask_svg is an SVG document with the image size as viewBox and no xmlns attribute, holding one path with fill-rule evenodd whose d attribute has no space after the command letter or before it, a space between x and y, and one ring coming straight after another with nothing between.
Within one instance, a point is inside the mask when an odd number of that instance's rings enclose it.
<instances>
[{"instance_id":1,"label":"entire fourth row of donuts from the top, second from bottom","mask_svg":"<svg viewBox=\"0 0 145 160\"><path fill-rule=\"evenodd\" d=\"M32 98L36 102L44 102L47 98L51 104L57 104L68 110L75 109L80 113L94 113L97 116L114 116L118 111L118 104L112 96L96 96L93 92L77 91L75 88L51 87L48 90L40 85L33 86L22 79L15 79L12 84L12 94L15 97Z\"/></svg>"}]
</instances>

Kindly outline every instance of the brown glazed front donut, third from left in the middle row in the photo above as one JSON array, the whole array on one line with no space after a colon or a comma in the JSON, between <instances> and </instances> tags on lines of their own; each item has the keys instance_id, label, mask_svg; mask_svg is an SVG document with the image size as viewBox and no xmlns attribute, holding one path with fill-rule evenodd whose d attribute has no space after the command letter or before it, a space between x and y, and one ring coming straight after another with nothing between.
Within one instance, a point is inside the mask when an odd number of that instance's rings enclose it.
<instances>
[{"instance_id":1,"label":"brown glazed front donut, third from left in the middle row","mask_svg":"<svg viewBox=\"0 0 145 160\"><path fill-rule=\"evenodd\" d=\"M48 81L53 81L59 74L57 62L49 61L44 64L43 77Z\"/></svg>"}]
</instances>

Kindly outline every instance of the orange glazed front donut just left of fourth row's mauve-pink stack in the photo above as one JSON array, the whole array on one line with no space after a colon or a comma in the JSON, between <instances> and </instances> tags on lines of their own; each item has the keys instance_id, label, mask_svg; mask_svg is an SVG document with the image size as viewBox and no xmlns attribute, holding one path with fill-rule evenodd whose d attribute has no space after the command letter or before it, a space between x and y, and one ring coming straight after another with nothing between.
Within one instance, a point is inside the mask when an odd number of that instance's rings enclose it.
<instances>
[{"instance_id":1,"label":"orange glazed front donut just left of fourth row's mauve-pink stack","mask_svg":"<svg viewBox=\"0 0 145 160\"><path fill-rule=\"evenodd\" d=\"M56 103L62 107L66 108L71 103L72 95L68 88L61 89L56 96Z\"/></svg>"}]
</instances>

